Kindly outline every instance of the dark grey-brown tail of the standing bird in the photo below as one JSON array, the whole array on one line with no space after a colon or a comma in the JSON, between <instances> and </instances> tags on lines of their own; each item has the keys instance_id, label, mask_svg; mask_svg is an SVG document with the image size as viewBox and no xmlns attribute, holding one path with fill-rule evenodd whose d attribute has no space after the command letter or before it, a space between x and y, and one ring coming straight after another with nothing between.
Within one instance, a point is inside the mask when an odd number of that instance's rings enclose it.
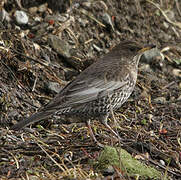
<instances>
[{"instance_id":1,"label":"dark grey-brown tail of the standing bird","mask_svg":"<svg viewBox=\"0 0 181 180\"><path fill-rule=\"evenodd\" d=\"M29 118L22 120L22 121L18 122L17 124L13 125L11 127L11 130L15 130L15 131L20 130L25 126L28 126L32 123L38 122L40 120L43 120L43 119L49 117L51 114L52 114L51 111L50 112L49 111L37 112L37 113L33 114L32 116L30 116Z\"/></svg>"}]
</instances>

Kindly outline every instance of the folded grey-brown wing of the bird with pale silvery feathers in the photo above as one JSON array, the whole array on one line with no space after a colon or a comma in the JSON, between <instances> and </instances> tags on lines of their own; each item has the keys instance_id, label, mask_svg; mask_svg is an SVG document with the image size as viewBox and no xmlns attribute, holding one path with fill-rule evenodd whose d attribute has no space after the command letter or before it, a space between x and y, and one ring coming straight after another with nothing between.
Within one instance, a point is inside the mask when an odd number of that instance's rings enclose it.
<instances>
[{"instance_id":1,"label":"folded grey-brown wing of the bird with pale silvery feathers","mask_svg":"<svg viewBox=\"0 0 181 180\"><path fill-rule=\"evenodd\" d=\"M58 94L44 110L59 110L66 107L73 107L76 105L81 105L83 103L89 103L107 95L111 95L116 89L120 89L126 85L127 81L120 80L120 78L115 78L115 73L120 72L111 72L113 74L108 78L100 76L96 78L95 76L85 77L81 80L76 79L70 83L67 87L64 88L62 93ZM127 74L129 76L129 73Z\"/></svg>"}]
</instances>

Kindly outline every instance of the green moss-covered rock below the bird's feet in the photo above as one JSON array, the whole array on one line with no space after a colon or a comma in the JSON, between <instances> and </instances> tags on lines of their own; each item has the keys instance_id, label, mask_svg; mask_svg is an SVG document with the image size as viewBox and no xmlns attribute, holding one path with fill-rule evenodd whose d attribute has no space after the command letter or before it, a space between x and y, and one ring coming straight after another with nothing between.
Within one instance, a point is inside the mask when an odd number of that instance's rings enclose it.
<instances>
[{"instance_id":1,"label":"green moss-covered rock below the bird's feet","mask_svg":"<svg viewBox=\"0 0 181 180\"><path fill-rule=\"evenodd\" d=\"M108 166L116 166L121 172L129 176L139 176L141 179L161 179L161 173L156 169L146 166L121 148L105 146L98 160L98 169L104 170Z\"/></svg>"}]
</instances>

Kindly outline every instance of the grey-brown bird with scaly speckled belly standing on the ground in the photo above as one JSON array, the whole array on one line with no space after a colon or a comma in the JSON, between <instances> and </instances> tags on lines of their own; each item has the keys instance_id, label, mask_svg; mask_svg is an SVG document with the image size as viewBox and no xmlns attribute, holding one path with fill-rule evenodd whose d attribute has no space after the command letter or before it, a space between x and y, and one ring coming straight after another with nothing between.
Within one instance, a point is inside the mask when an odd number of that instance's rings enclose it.
<instances>
[{"instance_id":1,"label":"grey-brown bird with scaly speckled belly standing on the ground","mask_svg":"<svg viewBox=\"0 0 181 180\"><path fill-rule=\"evenodd\" d=\"M96 142L90 127L92 119L98 119L114 135L118 135L108 125L107 119L112 111L119 109L129 98L136 84L139 60L145 52L155 47L143 46L132 40L120 42L82 71L48 104L11 129L20 130L51 115L65 115L87 123Z\"/></svg>"}]
</instances>

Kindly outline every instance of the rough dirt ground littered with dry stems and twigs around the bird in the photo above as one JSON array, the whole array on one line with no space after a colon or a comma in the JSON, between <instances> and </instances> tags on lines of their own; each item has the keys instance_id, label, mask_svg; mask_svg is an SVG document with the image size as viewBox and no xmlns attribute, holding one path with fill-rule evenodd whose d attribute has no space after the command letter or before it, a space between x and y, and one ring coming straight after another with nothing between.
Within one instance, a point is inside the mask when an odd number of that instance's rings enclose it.
<instances>
[{"instance_id":1,"label":"rough dirt ground littered with dry stems and twigs around the bird","mask_svg":"<svg viewBox=\"0 0 181 180\"><path fill-rule=\"evenodd\" d=\"M17 21L18 10L28 23ZM84 123L52 117L9 127L125 39L157 45L164 59L140 62L135 90L115 112L118 126L109 124L133 157L181 179L181 1L2 0L0 37L0 179L121 179L121 170L107 176L90 163L102 149ZM99 142L119 146L100 122L92 128Z\"/></svg>"}]
</instances>

